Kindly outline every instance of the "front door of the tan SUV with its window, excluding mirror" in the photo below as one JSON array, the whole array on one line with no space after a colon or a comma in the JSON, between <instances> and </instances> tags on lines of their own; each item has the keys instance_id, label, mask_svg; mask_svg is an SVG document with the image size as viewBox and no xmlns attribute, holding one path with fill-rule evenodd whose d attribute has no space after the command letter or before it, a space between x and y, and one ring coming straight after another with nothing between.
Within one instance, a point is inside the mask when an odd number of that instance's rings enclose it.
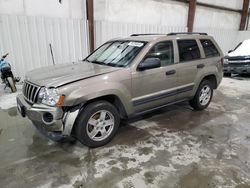
<instances>
[{"instance_id":1,"label":"front door of the tan SUV with its window, excluding mirror","mask_svg":"<svg viewBox=\"0 0 250 188\"><path fill-rule=\"evenodd\" d=\"M176 64L172 41L155 44L144 57L159 58L161 67L137 70L132 74L132 105L135 112L144 111L175 101Z\"/></svg>"}]
</instances>

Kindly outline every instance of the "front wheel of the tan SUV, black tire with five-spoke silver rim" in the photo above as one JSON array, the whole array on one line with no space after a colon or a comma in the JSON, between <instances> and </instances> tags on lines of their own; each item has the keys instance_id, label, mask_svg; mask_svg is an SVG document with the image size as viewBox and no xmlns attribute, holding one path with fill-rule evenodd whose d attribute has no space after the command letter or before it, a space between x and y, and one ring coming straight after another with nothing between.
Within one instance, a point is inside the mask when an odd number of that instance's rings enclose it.
<instances>
[{"instance_id":1,"label":"front wheel of the tan SUV, black tire with five-spoke silver rim","mask_svg":"<svg viewBox=\"0 0 250 188\"><path fill-rule=\"evenodd\" d=\"M112 140L120 124L117 109L107 101L96 101L83 108L75 123L74 134L89 147L100 147Z\"/></svg>"}]
</instances>

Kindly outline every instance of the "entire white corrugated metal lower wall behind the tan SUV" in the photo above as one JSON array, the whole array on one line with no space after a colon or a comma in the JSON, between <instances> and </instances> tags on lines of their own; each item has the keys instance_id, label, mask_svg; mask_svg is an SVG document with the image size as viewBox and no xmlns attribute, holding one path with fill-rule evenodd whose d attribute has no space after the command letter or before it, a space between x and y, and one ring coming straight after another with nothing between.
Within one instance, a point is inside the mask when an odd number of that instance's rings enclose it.
<instances>
[{"instance_id":1,"label":"entire white corrugated metal lower wall behind the tan SUV","mask_svg":"<svg viewBox=\"0 0 250 188\"><path fill-rule=\"evenodd\" d=\"M186 27L95 21L95 45L133 33L184 32ZM196 28L214 36L224 53L239 42L250 39L250 31ZM8 61L17 76L34 68L52 65L49 44L55 62L78 61L89 52L87 22L82 19L60 19L0 15L0 55L9 52Z\"/></svg>"}]
</instances>

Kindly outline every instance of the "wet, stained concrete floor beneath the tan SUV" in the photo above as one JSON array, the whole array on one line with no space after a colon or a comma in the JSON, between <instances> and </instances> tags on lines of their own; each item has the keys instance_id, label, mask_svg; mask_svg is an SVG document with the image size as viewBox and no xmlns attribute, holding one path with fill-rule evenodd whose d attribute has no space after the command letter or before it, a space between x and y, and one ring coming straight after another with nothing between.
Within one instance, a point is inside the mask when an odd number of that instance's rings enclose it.
<instances>
[{"instance_id":1,"label":"wet, stained concrete floor beneath the tan SUV","mask_svg":"<svg viewBox=\"0 0 250 188\"><path fill-rule=\"evenodd\" d=\"M250 78L225 78L202 112L170 106L124 122L108 145L56 144L0 88L0 187L250 187Z\"/></svg>"}]
</instances>

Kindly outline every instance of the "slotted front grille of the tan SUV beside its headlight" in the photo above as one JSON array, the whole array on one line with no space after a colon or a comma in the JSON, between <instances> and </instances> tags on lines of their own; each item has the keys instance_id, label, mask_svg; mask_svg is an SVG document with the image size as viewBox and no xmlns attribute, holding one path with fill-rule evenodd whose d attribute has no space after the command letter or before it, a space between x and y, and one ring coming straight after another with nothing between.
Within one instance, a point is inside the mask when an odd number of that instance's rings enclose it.
<instances>
[{"instance_id":1,"label":"slotted front grille of the tan SUV beside its headlight","mask_svg":"<svg viewBox=\"0 0 250 188\"><path fill-rule=\"evenodd\" d=\"M24 81L23 95L30 103L36 103L40 87L30 82Z\"/></svg>"}]
</instances>

